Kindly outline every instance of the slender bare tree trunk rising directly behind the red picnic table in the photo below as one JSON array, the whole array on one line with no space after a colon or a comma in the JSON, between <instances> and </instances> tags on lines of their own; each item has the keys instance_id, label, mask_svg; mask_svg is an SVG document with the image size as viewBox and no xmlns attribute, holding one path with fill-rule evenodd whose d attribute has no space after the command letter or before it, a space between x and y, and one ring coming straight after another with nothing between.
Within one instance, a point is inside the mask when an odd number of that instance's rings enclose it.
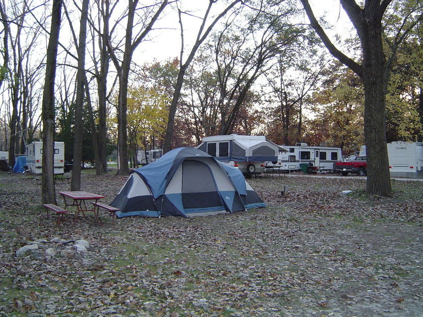
<instances>
[{"instance_id":1,"label":"slender bare tree trunk rising directly behind the red picnic table","mask_svg":"<svg viewBox=\"0 0 423 317\"><path fill-rule=\"evenodd\" d=\"M85 85L85 50L87 42L87 18L89 0L83 0L81 23L78 44L78 72L75 102L75 135L74 135L74 160L72 165L71 190L81 189L81 161L84 143L84 85Z\"/></svg>"}]
</instances>

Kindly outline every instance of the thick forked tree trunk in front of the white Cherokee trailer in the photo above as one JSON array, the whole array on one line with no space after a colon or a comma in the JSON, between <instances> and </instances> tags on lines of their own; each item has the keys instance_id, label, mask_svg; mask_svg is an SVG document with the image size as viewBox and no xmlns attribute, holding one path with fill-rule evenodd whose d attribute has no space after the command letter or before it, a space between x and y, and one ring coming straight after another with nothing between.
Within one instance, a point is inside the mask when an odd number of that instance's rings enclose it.
<instances>
[{"instance_id":1,"label":"thick forked tree trunk in front of the white Cherokee trailer","mask_svg":"<svg viewBox=\"0 0 423 317\"><path fill-rule=\"evenodd\" d=\"M312 27L328 51L349 67L362 80L364 101L364 139L367 152L367 193L390 196L388 150L386 148L385 96L387 85L386 59L382 47L382 16L390 0L365 0L362 9L354 0L340 0L357 30L363 62L358 64L340 52L317 22L308 0L301 0Z\"/></svg>"}]
</instances>

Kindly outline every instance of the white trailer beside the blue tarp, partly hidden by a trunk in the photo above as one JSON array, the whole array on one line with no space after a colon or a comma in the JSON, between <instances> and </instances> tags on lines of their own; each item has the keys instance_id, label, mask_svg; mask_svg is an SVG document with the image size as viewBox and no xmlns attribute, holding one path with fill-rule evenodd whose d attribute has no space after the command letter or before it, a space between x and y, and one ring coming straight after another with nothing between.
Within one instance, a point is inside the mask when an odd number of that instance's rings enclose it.
<instances>
[{"instance_id":1,"label":"white trailer beside the blue tarp, partly hidden by a trunk","mask_svg":"<svg viewBox=\"0 0 423 317\"><path fill-rule=\"evenodd\" d=\"M26 165L31 174L41 174L43 166L43 142L36 141L26 146ZM54 173L63 174L65 169L65 143L54 143Z\"/></svg>"}]
</instances>

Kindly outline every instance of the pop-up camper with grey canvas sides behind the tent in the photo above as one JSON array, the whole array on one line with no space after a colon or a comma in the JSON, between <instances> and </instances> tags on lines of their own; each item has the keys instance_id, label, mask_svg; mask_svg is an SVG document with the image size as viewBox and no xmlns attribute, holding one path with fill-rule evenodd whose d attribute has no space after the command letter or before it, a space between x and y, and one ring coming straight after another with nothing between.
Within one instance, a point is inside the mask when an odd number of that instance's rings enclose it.
<instances>
[{"instance_id":1,"label":"pop-up camper with grey canvas sides behind the tent","mask_svg":"<svg viewBox=\"0 0 423 317\"><path fill-rule=\"evenodd\" d=\"M238 167L246 177L260 174L266 161L276 161L279 150L283 150L264 136L237 134L204 137L197 149L223 163Z\"/></svg>"}]
</instances>

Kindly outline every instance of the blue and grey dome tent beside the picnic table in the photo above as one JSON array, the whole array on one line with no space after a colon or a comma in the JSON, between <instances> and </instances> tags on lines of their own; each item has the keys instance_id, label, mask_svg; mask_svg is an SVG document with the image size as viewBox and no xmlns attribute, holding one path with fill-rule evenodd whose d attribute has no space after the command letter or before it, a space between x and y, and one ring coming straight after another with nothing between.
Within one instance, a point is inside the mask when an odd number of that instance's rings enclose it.
<instances>
[{"instance_id":1,"label":"blue and grey dome tent beside the picnic table","mask_svg":"<svg viewBox=\"0 0 423 317\"><path fill-rule=\"evenodd\" d=\"M110 203L117 217L195 216L266 205L236 167L178 148L135 169Z\"/></svg>"}]
</instances>

